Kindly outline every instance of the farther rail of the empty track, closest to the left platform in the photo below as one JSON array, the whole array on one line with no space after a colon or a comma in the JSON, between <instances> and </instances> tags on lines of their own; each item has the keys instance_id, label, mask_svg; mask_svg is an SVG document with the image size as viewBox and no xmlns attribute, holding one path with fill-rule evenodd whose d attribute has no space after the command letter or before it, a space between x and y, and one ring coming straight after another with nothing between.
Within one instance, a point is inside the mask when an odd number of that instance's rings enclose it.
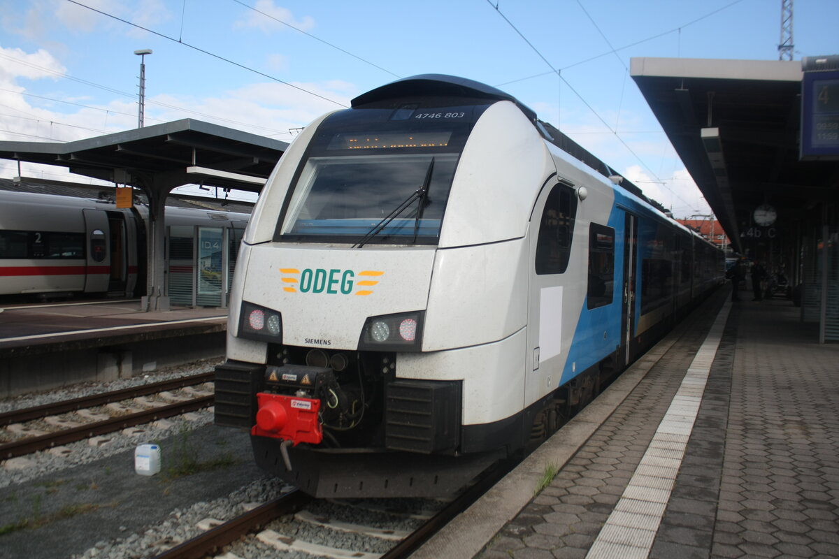
<instances>
[{"instance_id":1,"label":"farther rail of the empty track, closest to the left platform","mask_svg":"<svg viewBox=\"0 0 839 559\"><path fill-rule=\"evenodd\" d=\"M74 398L72 400L56 401L51 404L44 404L43 406L33 406L20 410L6 411L0 413L0 427L5 427L13 423L29 422L34 419L40 419L41 417L57 416L62 413L81 410L86 407L102 406L104 404L110 404L114 401L136 398L137 396L147 396L156 392L177 390L179 388L183 388L184 386L200 385L205 382L210 382L215 378L215 376L216 374L214 372L199 373L197 375L182 376L177 379L161 380L148 385L123 388L118 391L102 392L102 394L81 396L81 398Z\"/></svg>"}]
</instances>

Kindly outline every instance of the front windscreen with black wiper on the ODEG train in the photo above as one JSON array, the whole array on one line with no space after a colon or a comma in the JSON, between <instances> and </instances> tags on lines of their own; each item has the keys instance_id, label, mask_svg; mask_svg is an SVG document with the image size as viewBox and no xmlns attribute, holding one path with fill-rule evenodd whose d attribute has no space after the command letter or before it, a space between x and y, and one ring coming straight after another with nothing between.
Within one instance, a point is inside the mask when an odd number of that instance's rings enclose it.
<instances>
[{"instance_id":1,"label":"front windscreen with black wiper on the ODEG train","mask_svg":"<svg viewBox=\"0 0 839 559\"><path fill-rule=\"evenodd\" d=\"M375 241L413 238L415 225L418 242L436 240L457 158L456 153L309 158L294 185L282 235L357 238L392 215ZM411 199L423 188L425 196Z\"/></svg>"}]
</instances>

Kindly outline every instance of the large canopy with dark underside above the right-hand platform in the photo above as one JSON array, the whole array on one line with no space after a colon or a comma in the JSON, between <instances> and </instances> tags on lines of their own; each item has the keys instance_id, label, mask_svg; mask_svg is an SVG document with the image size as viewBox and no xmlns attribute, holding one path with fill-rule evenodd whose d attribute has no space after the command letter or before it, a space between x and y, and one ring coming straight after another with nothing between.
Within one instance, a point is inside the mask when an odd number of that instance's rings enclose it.
<instances>
[{"instance_id":1,"label":"large canopy with dark underside above the right-hand platform","mask_svg":"<svg viewBox=\"0 0 839 559\"><path fill-rule=\"evenodd\" d=\"M789 235L837 199L839 165L800 160L801 62L635 58L630 71L737 251L759 205Z\"/></svg>"}]
</instances>

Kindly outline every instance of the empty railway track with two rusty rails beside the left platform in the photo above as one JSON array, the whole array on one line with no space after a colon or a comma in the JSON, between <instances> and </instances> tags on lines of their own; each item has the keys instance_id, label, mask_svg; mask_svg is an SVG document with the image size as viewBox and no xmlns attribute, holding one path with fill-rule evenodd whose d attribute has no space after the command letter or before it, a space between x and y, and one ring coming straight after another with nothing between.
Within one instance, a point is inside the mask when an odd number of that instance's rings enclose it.
<instances>
[{"instance_id":1,"label":"empty railway track with two rusty rails beside the left platform","mask_svg":"<svg viewBox=\"0 0 839 559\"><path fill-rule=\"evenodd\" d=\"M170 391L210 382L213 380L213 375L213 373L201 373L120 391L59 401L44 406L7 411L0 414L0 427L5 427L7 430L16 425L23 426L26 422L49 420L51 417L55 418L51 425L58 427L58 430L41 432L37 429L18 429L19 434L16 440L0 443L0 460L75 443L85 438L105 435L128 427L135 427L143 423L154 422L165 417L173 417L212 406L214 396L206 392L196 391L193 391L195 396L169 396L173 399L173 402L169 404L146 399L146 401L143 401L143 406L149 406L147 409L138 409L140 404L134 399L153 394L170 395ZM131 406L121 404L124 401L134 401L134 403ZM108 405L112 406L113 417L106 417L107 414L95 412L86 413L86 417L78 414L80 411ZM70 412L76 412L73 419L60 417Z\"/></svg>"}]
</instances>

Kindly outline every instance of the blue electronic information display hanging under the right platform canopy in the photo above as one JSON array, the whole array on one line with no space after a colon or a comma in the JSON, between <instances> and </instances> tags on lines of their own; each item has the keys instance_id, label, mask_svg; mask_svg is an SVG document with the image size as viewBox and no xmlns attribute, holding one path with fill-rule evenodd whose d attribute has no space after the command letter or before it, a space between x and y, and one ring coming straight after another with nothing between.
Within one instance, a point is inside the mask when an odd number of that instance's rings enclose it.
<instances>
[{"instance_id":1,"label":"blue electronic information display hanging under the right platform canopy","mask_svg":"<svg viewBox=\"0 0 839 559\"><path fill-rule=\"evenodd\" d=\"M801 159L839 159L839 71L804 73Z\"/></svg>"}]
</instances>

